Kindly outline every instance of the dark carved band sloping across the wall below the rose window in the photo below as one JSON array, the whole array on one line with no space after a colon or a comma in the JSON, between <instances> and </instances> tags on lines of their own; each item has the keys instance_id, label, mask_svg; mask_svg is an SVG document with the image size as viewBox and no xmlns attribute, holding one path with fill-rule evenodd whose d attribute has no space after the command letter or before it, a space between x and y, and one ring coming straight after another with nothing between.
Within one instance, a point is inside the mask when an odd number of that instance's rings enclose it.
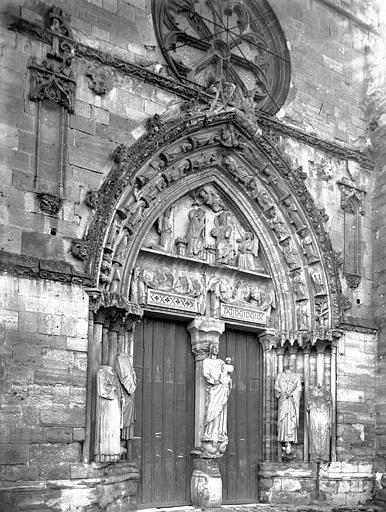
<instances>
[{"instance_id":1,"label":"dark carved band sloping across the wall below the rose window","mask_svg":"<svg viewBox=\"0 0 386 512\"><path fill-rule=\"evenodd\" d=\"M46 44L52 44L52 34L50 31L35 25L27 20L18 18L10 24L10 29L27 33ZM184 99L196 99L198 97L207 101L211 101L212 97L205 92L203 88L193 88L188 85L181 84L176 80L172 80L165 76L149 71L145 67L127 62L123 59L115 57L102 50L97 50L82 43L76 43L74 47L75 55L83 57L87 60L94 61L104 66L110 66L117 71L138 78L146 83L172 92ZM259 113L259 121L264 131L271 131L280 135L292 137L300 142L304 142L313 147L317 147L327 153L335 155L338 158L351 159L360 163L364 168L372 169L374 160L364 155L361 151L353 148L342 147L329 141L321 140L314 135L309 135L296 128L282 124L281 122Z\"/></svg>"}]
</instances>

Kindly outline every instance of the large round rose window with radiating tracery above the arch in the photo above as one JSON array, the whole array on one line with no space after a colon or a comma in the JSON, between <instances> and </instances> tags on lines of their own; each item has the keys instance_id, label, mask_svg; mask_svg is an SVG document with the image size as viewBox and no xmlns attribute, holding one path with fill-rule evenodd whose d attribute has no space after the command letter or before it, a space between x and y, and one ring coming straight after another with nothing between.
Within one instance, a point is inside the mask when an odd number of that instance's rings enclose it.
<instances>
[{"instance_id":1,"label":"large round rose window with radiating tracery above the arch","mask_svg":"<svg viewBox=\"0 0 386 512\"><path fill-rule=\"evenodd\" d=\"M251 97L266 113L279 110L290 61L266 0L153 0L152 9L161 50L181 81L205 87L216 101Z\"/></svg>"}]
</instances>

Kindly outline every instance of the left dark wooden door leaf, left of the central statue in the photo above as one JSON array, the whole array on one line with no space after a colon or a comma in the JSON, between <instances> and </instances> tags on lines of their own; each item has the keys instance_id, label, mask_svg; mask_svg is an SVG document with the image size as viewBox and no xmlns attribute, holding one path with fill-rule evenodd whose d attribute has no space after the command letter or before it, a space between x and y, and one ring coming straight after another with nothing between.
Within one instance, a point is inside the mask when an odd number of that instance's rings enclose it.
<instances>
[{"instance_id":1,"label":"left dark wooden door leaf, left of the central statue","mask_svg":"<svg viewBox=\"0 0 386 512\"><path fill-rule=\"evenodd\" d=\"M145 318L135 332L134 368L133 458L141 467L138 507L187 505L194 446L194 358L186 326Z\"/></svg>"}]
</instances>

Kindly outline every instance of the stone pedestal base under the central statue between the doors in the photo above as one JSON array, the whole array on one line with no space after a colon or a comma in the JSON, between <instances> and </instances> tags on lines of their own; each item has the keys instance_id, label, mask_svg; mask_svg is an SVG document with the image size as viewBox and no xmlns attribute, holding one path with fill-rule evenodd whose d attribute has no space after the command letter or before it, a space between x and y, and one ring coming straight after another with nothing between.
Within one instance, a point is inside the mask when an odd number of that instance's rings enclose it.
<instances>
[{"instance_id":1,"label":"stone pedestal base under the central statue between the doors","mask_svg":"<svg viewBox=\"0 0 386 512\"><path fill-rule=\"evenodd\" d=\"M193 474L190 483L192 505L202 510L220 507L222 481L220 458L206 458L201 452L193 453Z\"/></svg>"}]
</instances>

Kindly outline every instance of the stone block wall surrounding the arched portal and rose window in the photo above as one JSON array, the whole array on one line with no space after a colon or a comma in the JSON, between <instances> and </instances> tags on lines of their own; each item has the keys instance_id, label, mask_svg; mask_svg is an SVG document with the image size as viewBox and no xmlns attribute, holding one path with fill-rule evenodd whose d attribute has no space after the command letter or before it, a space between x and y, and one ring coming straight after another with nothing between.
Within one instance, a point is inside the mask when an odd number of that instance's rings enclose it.
<instances>
[{"instance_id":1,"label":"stone block wall surrounding the arched portal and rose window","mask_svg":"<svg viewBox=\"0 0 386 512\"><path fill-rule=\"evenodd\" d=\"M36 192L45 190L34 185L37 105L28 100L27 65L31 56L43 59L48 46L7 30L7 25L10 13L42 23L47 7L53 3L71 15L77 41L129 62L151 65L164 61L156 44L149 0L1 3L0 251L40 261L65 261L81 270L81 263L72 257L69 248L71 239L84 235L92 215L84 202L86 192L99 188L119 143L133 143L144 131L144 120L155 113L178 115L181 100L109 68L113 86L104 97L97 96L89 89L86 77L94 64L75 59L75 113L69 118L63 206L57 217L43 213ZM321 139L364 148L368 32L320 1L270 3L289 41L292 62L293 85L279 117ZM343 7L363 16L358 5L346 2ZM342 176L351 177L366 188L365 209L371 212L371 173L352 161L334 160L290 138L282 143L293 165L303 165L317 206L325 207L329 215L326 226L334 249L342 250L342 210L336 181ZM47 168L47 184L55 183L55 173L54 166L52 174ZM381 203L379 211L383 211ZM362 235L360 288L352 291L343 286L353 303L350 315L361 325L370 325L372 270L367 213ZM383 238L377 237L378 245ZM84 435L87 298L76 285L9 275L1 278L0 293L4 352L0 414L5 425L0 438L1 479L13 482L87 476L77 465ZM366 462L374 457L374 350L371 335L347 333L339 345L341 461L351 462L355 457ZM381 394L383 388L379 389ZM380 418L382 410L379 408ZM380 435L381 444L382 439Z\"/></svg>"}]
</instances>

